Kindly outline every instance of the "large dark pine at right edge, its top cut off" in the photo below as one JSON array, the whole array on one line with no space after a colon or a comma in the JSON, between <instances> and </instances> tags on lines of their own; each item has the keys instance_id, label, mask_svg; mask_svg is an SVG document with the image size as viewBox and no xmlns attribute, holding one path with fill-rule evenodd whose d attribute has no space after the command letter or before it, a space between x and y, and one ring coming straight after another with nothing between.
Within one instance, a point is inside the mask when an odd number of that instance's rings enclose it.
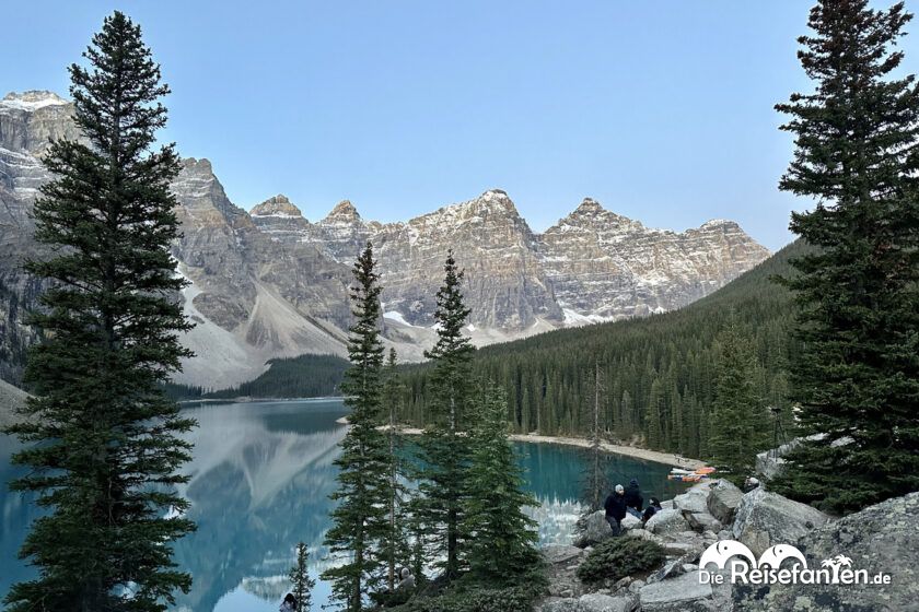
<instances>
[{"instance_id":1,"label":"large dark pine at right edge, its top cut off","mask_svg":"<svg viewBox=\"0 0 919 612\"><path fill-rule=\"evenodd\" d=\"M919 86L892 78L903 2L822 0L801 64L815 82L777 108L796 150L780 188L817 200L791 229L815 250L787 280L800 305L792 369L805 440L780 491L850 511L919 489Z\"/></svg>"}]
</instances>

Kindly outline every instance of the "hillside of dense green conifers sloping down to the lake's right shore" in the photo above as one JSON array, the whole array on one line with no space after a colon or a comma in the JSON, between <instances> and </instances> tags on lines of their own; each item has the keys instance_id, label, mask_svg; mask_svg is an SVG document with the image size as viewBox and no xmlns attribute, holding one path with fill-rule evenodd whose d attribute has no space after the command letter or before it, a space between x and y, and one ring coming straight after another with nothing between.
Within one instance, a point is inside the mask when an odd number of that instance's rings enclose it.
<instances>
[{"instance_id":1,"label":"hillside of dense green conifers sloping down to the lake's right shore","mask_svg":"<svg viewBox=\"0 0 919 612\"><path fill-rule=\"evenodd\" d=\"M741 435L763 447L772 438L768 408L784 409L782 419L789 420L788 363L795 350L792 297L771 276L789 274L789 259L805 250L800 242L791 244L679 310L484 348L473 375L507 389L516 432L585 434L598 365L598 410L608 437L710 457L718 455L710 446L719 429L722 438L736 436L726 426L743 420L748 431ZM430 368L405 366L404 374L405 417L424 424ZM731 375L752 385L740 401L725 397L720 403L746 414L718 412L719 380Z\"/></svg>"}]
</instances>

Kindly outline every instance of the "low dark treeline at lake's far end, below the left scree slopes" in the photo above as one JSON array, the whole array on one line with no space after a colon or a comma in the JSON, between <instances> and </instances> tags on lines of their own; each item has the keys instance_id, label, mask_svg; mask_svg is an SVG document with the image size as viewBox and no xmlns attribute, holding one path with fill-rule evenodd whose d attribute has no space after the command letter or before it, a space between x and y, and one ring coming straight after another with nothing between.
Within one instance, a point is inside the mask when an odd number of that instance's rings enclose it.
<instances>
[{"instance_id":1,"label":"low dark treeline at lake's far end, below the left scree slopes","mask_svg":"<svg viewBox=\"0 0 919 612\"><path fill-rule=\"evenodd\" d=\"M165 389L176 400L340 396L348 366L347 360L335 355L300 355L270 360L265 373L237 387L212 390L171 382Z\"/></svg>"}]
</instances>

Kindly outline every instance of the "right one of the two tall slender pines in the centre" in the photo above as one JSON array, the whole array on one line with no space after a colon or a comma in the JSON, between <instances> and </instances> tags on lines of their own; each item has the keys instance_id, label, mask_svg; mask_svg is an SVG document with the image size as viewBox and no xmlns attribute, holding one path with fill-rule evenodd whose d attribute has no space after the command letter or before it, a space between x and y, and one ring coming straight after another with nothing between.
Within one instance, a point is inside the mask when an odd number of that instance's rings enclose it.
<instances>
[{"instance_id":1,"label":"right one of the two tall slender pines in the centre","mask_svg":"<svg viewBox=\"0 0 919 612\"><path fill-rule=\"evenodd\" d=\"M463 433L468 421L469 361L475 348L463 334L470 310L463 301L463 271L457 269L452 250L447 254L444 273L434 313L438 341L424 353L433 361L432 419L419 443L421 496L416 511L430 530L433 556L445 558L445 576L453 579L460 574L460 546L464 539L463 501L468 449Z\"/></svg>"}]
</instances>

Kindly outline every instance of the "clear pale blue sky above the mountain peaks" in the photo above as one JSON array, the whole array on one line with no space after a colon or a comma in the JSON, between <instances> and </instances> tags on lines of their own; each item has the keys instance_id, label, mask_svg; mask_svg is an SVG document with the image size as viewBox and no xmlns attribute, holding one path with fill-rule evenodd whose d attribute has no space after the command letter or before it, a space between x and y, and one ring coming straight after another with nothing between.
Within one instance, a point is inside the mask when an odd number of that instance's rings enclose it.
<instances>
[{"instance_id":1,"label":"clear pale blue sky above the mountain peaks","mask_svg":"<svg viewBox=\"0 0 919 612\"><path fill-rule=\"evenodd\" d=\"M776 188L792 146L772 105L806 87L811 4L11 2L0 90L66 93L117 8L173 89L165 137L246 209L283 192L311 220L349 198L395 221L500 187L536 231L590 196L658 227L734 219L776 249L806 207Z\"/></svg>"}]
</instances>

